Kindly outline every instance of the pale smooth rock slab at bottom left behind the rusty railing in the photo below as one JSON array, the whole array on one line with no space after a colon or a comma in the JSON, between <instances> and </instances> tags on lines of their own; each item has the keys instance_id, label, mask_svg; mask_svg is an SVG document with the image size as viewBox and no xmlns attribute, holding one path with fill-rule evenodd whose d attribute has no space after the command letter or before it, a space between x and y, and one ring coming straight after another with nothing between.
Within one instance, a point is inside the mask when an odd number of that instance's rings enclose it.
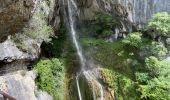
<instances>
[{"instance_id":1,"label":"pale smooth rock slab at bottom left behind the rusty railing","mask_svg":"<svg viewBox=\"0 0 170 100\"><path fill-rule=\"evenodd\" d=\"M0 90L17 100L52 100L45 92L37 91L33 71L19 71L0 77Z\"/></svg>"}]
</instances>

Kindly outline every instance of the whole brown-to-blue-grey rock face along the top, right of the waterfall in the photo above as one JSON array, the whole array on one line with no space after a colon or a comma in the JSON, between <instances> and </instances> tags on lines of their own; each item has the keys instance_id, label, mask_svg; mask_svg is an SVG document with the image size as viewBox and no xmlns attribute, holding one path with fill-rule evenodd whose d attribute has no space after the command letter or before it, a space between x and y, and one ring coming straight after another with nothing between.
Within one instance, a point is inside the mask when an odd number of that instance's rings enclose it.
<instances>
[{"instance_id":1,"label":"whole brown-to-blue-grey rock face along the top, right of the waterfall","mask_svg":"<svg viewBox=\"0 0 170 100\"><path fill-rule=\"evenodd\" d=\"M80 20L91 20L96 11L108 12L142 26L156 12L170 13L169 0L75 0Z\"/></svg>"}]
</instances>

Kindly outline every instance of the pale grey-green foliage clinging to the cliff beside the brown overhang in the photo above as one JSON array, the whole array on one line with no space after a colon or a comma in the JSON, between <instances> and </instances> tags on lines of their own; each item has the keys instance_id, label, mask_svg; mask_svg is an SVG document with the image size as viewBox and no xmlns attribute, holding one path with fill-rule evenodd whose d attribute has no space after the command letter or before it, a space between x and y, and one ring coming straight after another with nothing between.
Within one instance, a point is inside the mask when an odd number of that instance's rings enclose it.
<instances>
[{"instance_id":1,"label":"pale grey-green foliage clinging to the cliff beside the brown overhang","mask_svg":"<svg viewBox=\"0 0 170 100\"><path fill-rule=\"evenodd\" d=\"M49 26L44 19L43 15L34 15L31 19L29 28L24 29L24 33L29 37L36 39L38 41L51 41L50 36L53 35L53 28Z\"/></svg>"}]
</instances>

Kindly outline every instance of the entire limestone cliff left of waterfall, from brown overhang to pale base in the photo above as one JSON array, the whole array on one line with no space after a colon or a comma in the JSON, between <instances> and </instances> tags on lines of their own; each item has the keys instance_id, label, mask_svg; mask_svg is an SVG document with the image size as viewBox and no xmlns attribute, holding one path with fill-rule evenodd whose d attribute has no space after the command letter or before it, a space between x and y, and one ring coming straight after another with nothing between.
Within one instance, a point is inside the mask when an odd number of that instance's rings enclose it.
<instances>
[{"instance_id":1,"label":"entire limestone cliff left of waterfall, from brown overhang to pale base","mask_svg":"<svg viewBox=\"0 0 170 100\"><path fill-rule=\"evenodd\" d=\"M27 68L53 34L47 21L53 1L0 0L0 90L17 100L52 100L37 90L35 74Z\"/></svg>"}]
</instances>

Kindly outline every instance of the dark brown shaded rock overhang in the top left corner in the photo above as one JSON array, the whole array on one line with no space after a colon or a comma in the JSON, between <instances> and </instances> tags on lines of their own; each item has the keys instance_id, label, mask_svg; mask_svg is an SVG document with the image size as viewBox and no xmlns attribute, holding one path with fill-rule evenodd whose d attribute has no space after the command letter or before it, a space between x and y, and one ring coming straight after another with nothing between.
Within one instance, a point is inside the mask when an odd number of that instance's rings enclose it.
<instances>
[{"instance_id":1,"label":"dark brown shaded rock overhang in the top left corner","mask_svg":"<svg viewBox=\"0 0 170 100\"><path fill-rule=\"evenodd\" d=\"M34 0L0 0L0 41L20 31L33 9Z\"/></svg>"}]
</instances>

